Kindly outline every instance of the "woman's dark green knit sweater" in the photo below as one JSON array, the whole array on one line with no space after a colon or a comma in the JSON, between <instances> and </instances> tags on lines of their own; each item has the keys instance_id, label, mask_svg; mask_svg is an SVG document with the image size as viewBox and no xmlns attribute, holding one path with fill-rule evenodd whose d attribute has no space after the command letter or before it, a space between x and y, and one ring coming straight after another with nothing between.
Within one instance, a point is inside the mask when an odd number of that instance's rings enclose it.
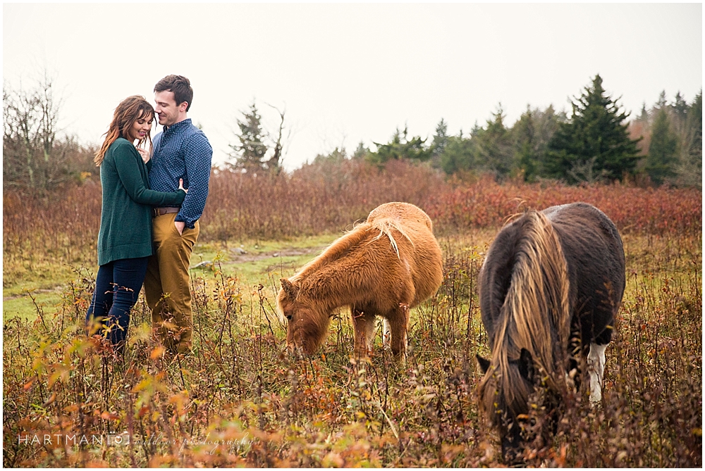
<instances>
[{"instance_id":1,"label":"woman's dark green knit sweater","mask_svg":"<svg viewBox=\"0 0 705 471\"><path fill-rule=\"evenodd\" d=\"M152 206L181 206L184 191L149 189L147 166L127 139L118 137L100 165L103 205L98 265L152 255Z\"/></svg>"}]
</instances>

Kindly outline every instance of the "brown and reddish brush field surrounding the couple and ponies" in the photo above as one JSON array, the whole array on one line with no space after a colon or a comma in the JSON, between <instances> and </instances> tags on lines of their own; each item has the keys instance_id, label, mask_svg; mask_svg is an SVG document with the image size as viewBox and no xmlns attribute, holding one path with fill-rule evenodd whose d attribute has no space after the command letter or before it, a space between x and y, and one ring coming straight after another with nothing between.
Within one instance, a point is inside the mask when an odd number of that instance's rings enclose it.
<instances>
[{"instance_id":1,"label":"brown and reddish brush field surrounding the couple and ponies","mask_svg":"<svg viewBox=\"0 0 705 471\"><path fill-rule=\"evenodd\" d=\"M217 258L213 270L192 276L193 355L164 355L140 297L125 360L117 361L82 330L94 289L99 184L44 199L5 192L3 199L4 288L37 270L74 270L55 313L37 304L31 319L4 319L6 467L501 465L496 434L475 396L475 355L488 353L477 271L510 215L572 201L601 208L623 234L627 289L607 349L601 405L591 408L586 391L568 398L556 436L544 442L538 434L526 463L702 465L699 189L446 180L399 161L384 169L322 163L256 177L214 170L200 242L225 248L335 236L387 201L427 211L445 279L412 311L405 368L381 348L379 335L369 363L351 360L344 310L317 355L288 356L274 299L278 278L298 267L265 270L259 283L248 284ZM532 411L537 427L540 396ZM102 444L90 443L94 436ZM115 444L116 436L130 443Z\"/></svg>"}]
</instances>

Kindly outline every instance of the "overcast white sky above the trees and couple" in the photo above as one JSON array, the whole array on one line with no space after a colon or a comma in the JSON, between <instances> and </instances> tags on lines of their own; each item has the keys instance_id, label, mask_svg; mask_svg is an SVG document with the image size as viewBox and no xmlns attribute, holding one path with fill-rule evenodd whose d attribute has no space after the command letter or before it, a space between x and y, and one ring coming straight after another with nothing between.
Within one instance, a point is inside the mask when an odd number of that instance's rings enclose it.
<instances>
[{"instance_id":1,"label":"overcast white sky above the trees and couple","mask_svg":"<svg viewBox=\"0 0 705 471\"><path fill-rule=\"evenodd\" d=\"M570 110L599 73L639 113L702 87L701 4L4 4L3 78L54 75L61 125L102 142L126 96L185 75L189 117L223 162L240 111L286 109L284 165L336 146L484 125L502 103ZM161 130L161 126L159 126ZM157 130L153 133L157 134Z\"/></svg>"}]
</instances>

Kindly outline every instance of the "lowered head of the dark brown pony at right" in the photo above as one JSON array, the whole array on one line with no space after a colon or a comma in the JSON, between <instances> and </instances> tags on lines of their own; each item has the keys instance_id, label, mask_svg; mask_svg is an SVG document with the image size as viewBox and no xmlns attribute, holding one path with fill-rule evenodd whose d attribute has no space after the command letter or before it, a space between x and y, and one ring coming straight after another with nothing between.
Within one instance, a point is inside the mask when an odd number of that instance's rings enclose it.
<instances>
[{"instance_id":1,"label":"lowered head of the dark brown pony at right","mask_svg":"<svg viewBox=\"0 0 705 471\"><path fill-rule=\"evenodd\" d=\"M484 377L479 384L479 406L497 427L502 442L502 456L508 464L522 456L521 423L529 412L529 394L536 377L534 360L526 348L519 358L507 356L486 360L477 356Z\"/></svg>"}]
</instances>

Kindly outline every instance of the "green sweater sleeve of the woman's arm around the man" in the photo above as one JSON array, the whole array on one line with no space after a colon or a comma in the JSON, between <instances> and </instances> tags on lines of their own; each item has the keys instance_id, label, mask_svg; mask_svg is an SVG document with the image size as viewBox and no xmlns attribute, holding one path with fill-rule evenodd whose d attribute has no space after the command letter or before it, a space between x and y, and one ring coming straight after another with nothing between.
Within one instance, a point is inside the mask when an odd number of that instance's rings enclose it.
<instances>
[{"instance_id":1,"label":"green sweater sleeve of the woman's arm around the man","mask_svg":"<svg viewBox=\"0 0 705 471\"><path fill-rule=\"evenodd\" d=\"M184 191L178 190L174 193L164 193L148 189L142 180L140 165L142 157L130 144L121 144L115 149L115 168L118 177L128 192L130 198L135 203L149 204L152 206L180 206L186 196Z\"/></svg>"}]
</instances>

